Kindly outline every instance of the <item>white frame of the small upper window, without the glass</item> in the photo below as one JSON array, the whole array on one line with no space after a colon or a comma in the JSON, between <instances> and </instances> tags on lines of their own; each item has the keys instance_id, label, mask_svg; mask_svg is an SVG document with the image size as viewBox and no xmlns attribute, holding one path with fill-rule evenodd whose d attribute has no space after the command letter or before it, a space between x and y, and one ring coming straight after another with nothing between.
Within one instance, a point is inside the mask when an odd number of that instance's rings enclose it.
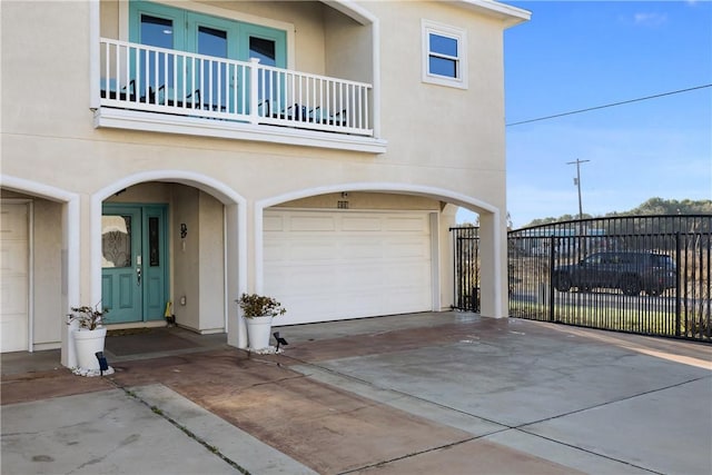
<instances>
[{"instance_id":1,"label":"white frame of the small upper window, without the glass","mask_svg":"<svg viewBox=\"0 0 712 475\"><path fill-rule=\"evenodd\" d=\"M439 86L449 86L453 88L467 89L467 31L437 23L431 20L422 20L423 31L423 82L429 82ZM431 34L452 38L457 41L457 57L452 58L457 62L457 77L432 73L431 66Z\"/></svg>"}]
</instances>

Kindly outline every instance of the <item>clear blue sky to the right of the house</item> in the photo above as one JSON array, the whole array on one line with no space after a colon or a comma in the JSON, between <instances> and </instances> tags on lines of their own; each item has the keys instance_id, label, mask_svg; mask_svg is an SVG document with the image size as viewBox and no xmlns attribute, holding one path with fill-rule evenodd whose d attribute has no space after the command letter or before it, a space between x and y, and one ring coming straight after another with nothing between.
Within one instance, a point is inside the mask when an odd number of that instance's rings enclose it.
<instances>
[{"instance_id":1,"label":"clear blue sky to the right of the house","mask_svg":"<svg viewBox=\"0 0 712 475\"><path fill-rule=\"evenodd\" d=\"M710 1L503 1L506 123L712 85ZM712 199L712 87L506 127L514 227L649 198ZM461 210L458 221L474 221Z\"/></svg>"}]
</instances>

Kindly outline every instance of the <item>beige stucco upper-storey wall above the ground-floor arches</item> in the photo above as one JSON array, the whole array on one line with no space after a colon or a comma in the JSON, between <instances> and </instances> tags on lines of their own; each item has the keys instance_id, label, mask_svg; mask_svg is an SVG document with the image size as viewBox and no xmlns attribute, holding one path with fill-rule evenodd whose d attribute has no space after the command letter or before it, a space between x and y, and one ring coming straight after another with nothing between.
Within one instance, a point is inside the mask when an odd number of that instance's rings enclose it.
<instances>
[{"instance_id":1,"label":"beige stucco upper-storey wall above the ground-floor arches","mask_svg":"<svg viewBox=\"0 0 712 475\"><path fill-rule=\"evenodd\" d=\"M382 121L388 148L377 156L95 129L88 107L87 3L3 4L3 70L14 71L3 77L3 151L23 157L4 160L4 171L26 176L30 170L33 179L91 194L147 168L192 169L217 176L255 199L323 184L427 184L503 209L501 27L474 21L462 9L438 4L428 12L426 2L396 4L364 3L379 17L384 37ZM39 31L19 27L42 18L53 21ZM422 18L468 29L471 44L477 46L469 48L469 89L421 82ZM386 38L383 32L398 34ZM310 52L297 51L297 58ZM91 179L78 180L77 170Z\"/></svg>"}]
</instances>

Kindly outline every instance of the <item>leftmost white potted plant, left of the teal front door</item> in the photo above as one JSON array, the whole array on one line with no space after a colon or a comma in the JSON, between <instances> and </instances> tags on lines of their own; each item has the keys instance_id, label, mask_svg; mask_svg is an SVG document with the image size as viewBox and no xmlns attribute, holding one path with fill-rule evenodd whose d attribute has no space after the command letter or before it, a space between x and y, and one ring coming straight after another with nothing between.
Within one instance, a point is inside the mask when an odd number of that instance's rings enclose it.
<instances>
[{"instance_id":1,"label":"leftmost white potted plant, left of the teal front door","mask_svg":"<svg viewBox=\"0 0 712 475\"><path fill-rule=\"evenodd\" d=\"M99 372L99 360L97 352L103 352L103 343L107 336L107 328L102 326L103 316L108 309L82 306L71 307L68 314L67 325L72 326L75 337L75 348L77 350L77 366L80 370Z\"/></svg>"}]
</instances>

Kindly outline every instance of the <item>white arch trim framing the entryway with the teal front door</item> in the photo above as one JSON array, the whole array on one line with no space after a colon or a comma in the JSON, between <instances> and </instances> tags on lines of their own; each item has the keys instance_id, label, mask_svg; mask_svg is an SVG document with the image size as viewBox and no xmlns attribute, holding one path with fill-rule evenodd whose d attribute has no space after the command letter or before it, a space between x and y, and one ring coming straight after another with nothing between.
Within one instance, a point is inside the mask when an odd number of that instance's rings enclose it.
<instances>
[{"instance_id":1,"label":"white arch trim framing the entryway with the teal front door","mask_svg":"<svg viewBox=\"0 0 712 475\"><path fill-rule=\"evenodd\" d=\"M225 206L226 295L240 295L247 290L247 200L224 182L194 171L150 170L123 177L91 196L90 209L90 301L101 300L101 209L111 195L134 185L167 181L197 188L215 197ZM247 337L238 318L237 306L226 305L228 343L245 347Z\"/></svg>"}]
</instances>

